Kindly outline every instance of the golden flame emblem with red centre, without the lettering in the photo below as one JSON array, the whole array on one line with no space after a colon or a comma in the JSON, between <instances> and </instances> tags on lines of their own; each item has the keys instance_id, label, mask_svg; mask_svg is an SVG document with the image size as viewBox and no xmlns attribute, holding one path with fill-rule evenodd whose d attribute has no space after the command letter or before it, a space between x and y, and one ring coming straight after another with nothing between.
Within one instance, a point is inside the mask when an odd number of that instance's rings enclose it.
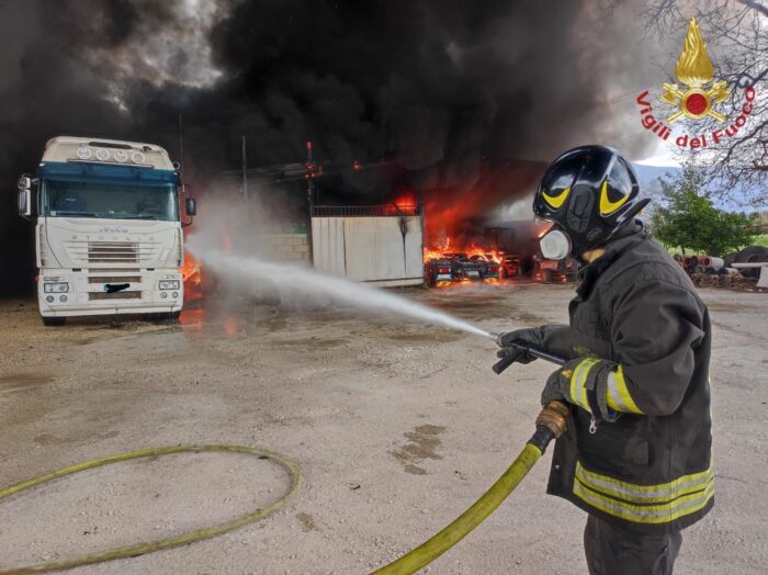
<instances>
[{"instance_id":1,"label":"golden flame emblem with red centre, without the lettering","mask_svg":"<svg viewBox=\"0 0 768 575\"><path fill-rule=\"evenodd\" d=\"M725 115L712 110L712 105L725 100L731 91L724 80L712 82L714 68L707 54L707 44L701 37L694 18L688 24L686 43L677 59L675 76L687 90L681 89L677 83L665 82L662 84L664 89L664 93L660 95L662 101L678 109L677 112L667 117L669 124L682 116L700 120L707 115L719 122L725 122ZM708 88L710 82L712 83Z\"/></svg>"}]
</instances>

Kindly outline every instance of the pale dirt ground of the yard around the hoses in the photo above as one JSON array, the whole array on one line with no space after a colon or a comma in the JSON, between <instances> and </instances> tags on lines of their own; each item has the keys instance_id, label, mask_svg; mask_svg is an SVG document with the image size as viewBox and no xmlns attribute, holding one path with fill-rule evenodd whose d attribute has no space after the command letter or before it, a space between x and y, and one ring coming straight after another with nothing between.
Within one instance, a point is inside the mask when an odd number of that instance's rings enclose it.
<instances>
[{"instance_id":1,"label":"pale dirt ground of the yard around the hoses","mask_svg":"<svg viewBox=\"0 0 768 575\"><path fill-rule=\"evenodd\" d=\"M572 289L409 291L487 330L563 322ZM704 290L714 323L716 504L684 533L677 573L768 564L768 296ZM504 472L533 431L550 364L490 371L490 340L349 309L208 301L182 325L43 328L0 303L0 485L178 443L278 451L297 496L219 538L77 570L366 573L421 543ZM432 573L586 573L585 515L544 494L550 453ZM120 463L0 501L0 567L149 541L268 505L270 462L179 454Z\"/></svg>"}]
</instances>

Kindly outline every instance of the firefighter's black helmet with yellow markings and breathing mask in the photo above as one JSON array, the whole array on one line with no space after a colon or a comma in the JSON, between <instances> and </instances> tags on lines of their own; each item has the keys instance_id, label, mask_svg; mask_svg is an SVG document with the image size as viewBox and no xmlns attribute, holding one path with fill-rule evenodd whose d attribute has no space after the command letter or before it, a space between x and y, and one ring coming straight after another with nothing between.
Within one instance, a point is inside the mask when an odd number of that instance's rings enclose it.
<instances>
[{"instance_id":1,"label":"firefighter's black helmet with yellow markings and breathing mask","mask_svg":"<svg viewBox=\"0 0 768 575\"><path fill-rule=\"evenodd\" d=\"M605 246L634 219L651 201L639 195L637 176L618 150L579 146L562 154L546 169L533 199L533 213L553 222L552 232L567 236L568 249L563 253L561 245L557 259L578 257ZM557 250L545 250L546 239L542 238L542 251L553 257ZM549 238L551 246L555 246L555 239Z\"/></svg>"}]
</instances>

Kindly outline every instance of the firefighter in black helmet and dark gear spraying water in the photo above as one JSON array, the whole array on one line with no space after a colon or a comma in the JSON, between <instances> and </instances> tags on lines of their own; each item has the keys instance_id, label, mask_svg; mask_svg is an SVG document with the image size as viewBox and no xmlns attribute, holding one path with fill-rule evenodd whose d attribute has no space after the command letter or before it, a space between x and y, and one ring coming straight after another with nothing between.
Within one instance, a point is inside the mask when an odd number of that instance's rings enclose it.
<instances>
[{"instance_id":1,"label":"firefighter in black helmet and dark gear spraying water","mask_svg":"<svg viewBox=\"0 0 768 575\"><path fill-rule=\"evenodd\" d=\"M542 404L572 417L552 456L547 493L589 514L589 573L667 574L680 531L714 503L707 306L636 219L637 177L614 149L583 146L546 170L534 214L552 222L545 258L583 264L568 326L502 334L499 357L533 358L521 342L567 358Z\"/></svg>"}]
</instances>

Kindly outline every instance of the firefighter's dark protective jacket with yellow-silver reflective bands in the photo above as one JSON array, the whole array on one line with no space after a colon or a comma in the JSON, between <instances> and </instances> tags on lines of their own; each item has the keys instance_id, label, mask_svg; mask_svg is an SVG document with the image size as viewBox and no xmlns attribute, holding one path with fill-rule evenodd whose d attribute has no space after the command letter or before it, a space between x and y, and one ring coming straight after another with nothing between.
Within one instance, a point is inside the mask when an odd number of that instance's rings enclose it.
<instances>
[{"instance_id":1,"label":"firefighter's dark protective jacket with yellow-silver reflective bands","mask_svg":"<svg viewBox=\"0 0 768 575\"><path fill-rule=\"evenodd\" d=\"M573 417L547 493L647 533L698 521L714 503L711 328L689 278L633 232L581 271L569 316L540 328L571 360Z\"/></svg>"}]
</instances>

